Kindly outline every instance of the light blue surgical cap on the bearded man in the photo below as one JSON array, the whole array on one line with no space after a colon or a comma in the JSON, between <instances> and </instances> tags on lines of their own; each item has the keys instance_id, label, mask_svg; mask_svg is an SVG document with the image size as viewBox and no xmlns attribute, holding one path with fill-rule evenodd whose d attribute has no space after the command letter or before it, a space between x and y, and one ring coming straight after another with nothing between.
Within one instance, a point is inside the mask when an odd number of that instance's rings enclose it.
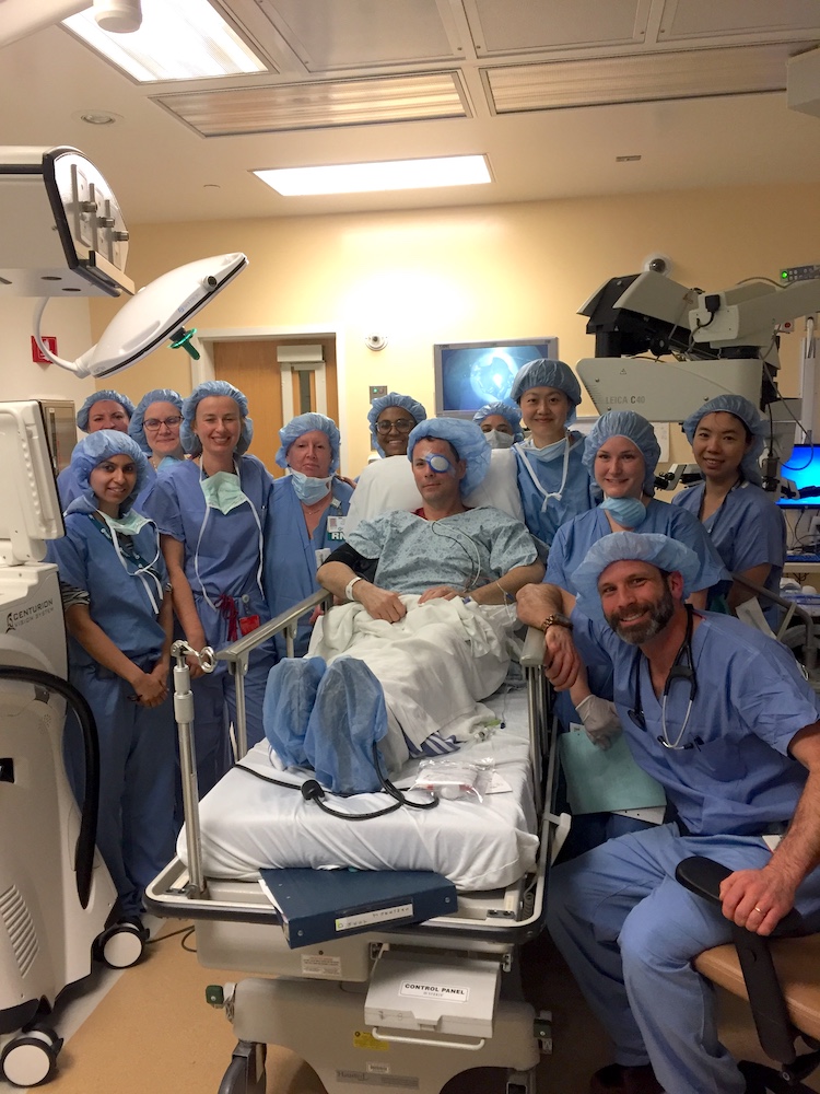
<instances>
[{"instance_id":1,"label":"light blue surgical cap on the bearded man","mask_svg":"<svg viewBox=\"0 0 820 1094\"><path fill-rule=\"evenodd\" d=\"M598 539L586 554L586 558L572 575L577 591L577 606L590 619L604 619L598 580L608 566L623 559L652 562L658 570L671 573L677 570L683 578L683 597L694 589L699 580L700 562L691 547L679 539L652 532L612 532Z\"/></svg>"}]
</instances>

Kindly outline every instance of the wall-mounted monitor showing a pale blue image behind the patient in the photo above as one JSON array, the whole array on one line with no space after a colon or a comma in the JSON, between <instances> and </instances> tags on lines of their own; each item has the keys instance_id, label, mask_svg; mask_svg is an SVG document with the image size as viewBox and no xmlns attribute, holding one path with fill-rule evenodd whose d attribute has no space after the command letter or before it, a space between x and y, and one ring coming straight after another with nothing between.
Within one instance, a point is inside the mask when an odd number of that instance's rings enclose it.
<instances>
[{"instance_id":1,"label":"wall-mounted monitor showing a pale blue image behind the patient","mask_svg":"<svg viewBox=\"0 0 820 1094\"><path fill-rule=\"evenodd\" d=\"M447 342L433 347L435 412L471 418L485 403L508 399L516 372L539 357L558 357L558 338Z\"/></svg>"}]
</instances>

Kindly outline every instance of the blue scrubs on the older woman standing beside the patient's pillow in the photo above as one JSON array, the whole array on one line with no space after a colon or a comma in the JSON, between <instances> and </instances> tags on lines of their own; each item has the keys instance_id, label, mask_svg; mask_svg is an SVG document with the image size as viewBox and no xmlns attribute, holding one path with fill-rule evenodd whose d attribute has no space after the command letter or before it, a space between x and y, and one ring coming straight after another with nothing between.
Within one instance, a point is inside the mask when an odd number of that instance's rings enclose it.
<instances>
[{"instance_id":1,"label":"blue scrubs on the older woman standing beside the patient's pillow","mask_svg":"<svg viewBox=\"0 0 820 1094\"><path fill-rule=\"evenodd\" d=\"M271 616L288 612L294 604L318 592L316 551L336 550L344 540L343 525L333 525L347 516L353 489L341 479L333 479L330 492L331 501L313 536L308 536L302 502L293 489L293 479L286 476L273 484L265 534L263 582ZM300 621L294 656L303 657L307 653L312 630L306 618ZM277 654L280 657L288 656L284 635L277 635L273 641Z\"/></svg>"}]
</instances>

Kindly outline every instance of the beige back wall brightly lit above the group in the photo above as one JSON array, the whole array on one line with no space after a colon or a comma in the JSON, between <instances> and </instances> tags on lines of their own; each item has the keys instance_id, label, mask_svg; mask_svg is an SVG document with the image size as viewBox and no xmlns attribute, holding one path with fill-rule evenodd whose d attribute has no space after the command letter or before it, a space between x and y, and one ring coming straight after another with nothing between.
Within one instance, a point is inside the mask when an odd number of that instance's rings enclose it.
<instances>
[{"instance_id":1,"label":"beige back wall brightly lit above the group","mask_svg":"<svg viewBox=\"0 0 820 1094\"><path fill-rule=\"evenodd\" d=\"M696 154L696 150L693 150ZM412 393L432 411L433 344L558 335L575 363L594 351L576 314L606 280L668 254L675 280L718 291L781 266L820 260L820 187L690 190L441 211L140 225L138 284L209 254L244 251L249 268L195 319L203 333L261 328L338 333L343 469L367 458L367 385ZM91 303L96 335L118 305ZM374 353L368 334L388 339ZM799 334L782 350L782 389L797 394ZM790 344L789 344L790 342ZM134 401L191 379L161 350L116 377ZM582 407L594 412L591 404ZM257 423L260 408L251 407ZM672 433L677 430L672 428ZM672 447L672 454L686 447Z\"/></svg>"}]
</instances>

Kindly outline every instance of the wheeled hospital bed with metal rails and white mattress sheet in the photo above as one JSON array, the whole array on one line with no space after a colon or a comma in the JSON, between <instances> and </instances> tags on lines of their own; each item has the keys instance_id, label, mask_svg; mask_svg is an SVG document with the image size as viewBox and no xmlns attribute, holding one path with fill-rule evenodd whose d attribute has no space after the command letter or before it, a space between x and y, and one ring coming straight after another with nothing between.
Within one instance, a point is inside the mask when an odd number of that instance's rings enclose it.
<instances>
[{"instance_id":1,"label":"wheeled hospital bed with metal rails and white mattress sheet","mask_svg":"<svg viewBox=\"0 0 820 1094\"><path fill-rule=\"evenodd\" d=\"M505 728L470 746L494 758L509 791L350 824L325 817L297 788L255 778L270 771L265 743L245 756L242 675L250 651L280 631L292 650L297 619L323 603L329 597L317 593L216 654L236 677L241 759L199 805L190 725L185 715L180 723L186 827L145 904L194 920L203 966L254 974L209 989L238 1040L219 1094L263 1094L269 1044L304 1059L328 1094L355 1086L437 1094L479 1067L506 1069L507 1094L535 1094L550 1021L520 996L517 953L542 930L548 865L569 828L569 817L551 812L557 750L543 636L530 632L525 643L525 686L487 700ZM378 798L335 807L366 811ZM458 907L425 923L292 950L258 868L320 863L436 870L455 881Z\"/></svg>"}]
</instances>

